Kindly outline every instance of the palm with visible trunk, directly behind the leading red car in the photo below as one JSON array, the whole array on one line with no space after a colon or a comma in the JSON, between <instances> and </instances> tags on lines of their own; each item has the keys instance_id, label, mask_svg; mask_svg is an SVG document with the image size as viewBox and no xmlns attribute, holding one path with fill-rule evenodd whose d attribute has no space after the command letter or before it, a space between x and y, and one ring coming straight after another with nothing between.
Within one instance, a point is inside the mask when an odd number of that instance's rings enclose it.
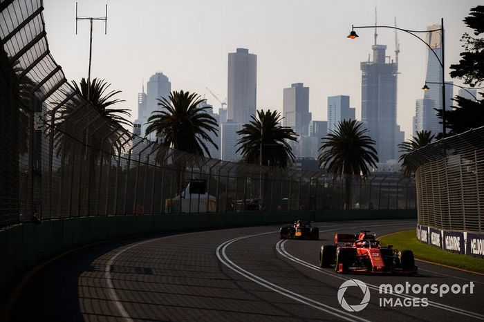
<instances>
[{"instance_id":1,"label":"palm with visible trunk, directly behind the leading red car","mask_svg":"<svg viewBox=\"0 0 484 322\"><path fill-rule=\"evenodd\" d=\"M366 176L369 165L376 167L377 151L367 129L362 129L362 123L357 120L339 122L336 131L322 139L319 148L319 166L326 167L335 176L345 179L345 209L351 209L351 177Z\"/></svg>"}]
</instances>

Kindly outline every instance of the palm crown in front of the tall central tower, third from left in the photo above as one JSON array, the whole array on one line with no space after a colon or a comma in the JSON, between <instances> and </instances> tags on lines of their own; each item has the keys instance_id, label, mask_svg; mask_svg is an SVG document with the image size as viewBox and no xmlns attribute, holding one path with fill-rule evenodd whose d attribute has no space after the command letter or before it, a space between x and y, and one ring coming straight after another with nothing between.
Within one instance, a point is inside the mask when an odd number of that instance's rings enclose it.
<instances>
[{"instance_id":1,"label":"palm crown in front of the tall central tower, third from left","mask_svg":"<svg viewBox=\"0 0 484 322\"><path fill-rule=\"evenodd\" d=\"M237 134L242 160L247 163L263 164L271 167L287 168L295 160L288 141L297 141L297 134L289 127L281 126L281 113L277 111L257 111L257 117L244 124ZM261 162L262 148L262 162Z\"/></svg>"}]
</instances>

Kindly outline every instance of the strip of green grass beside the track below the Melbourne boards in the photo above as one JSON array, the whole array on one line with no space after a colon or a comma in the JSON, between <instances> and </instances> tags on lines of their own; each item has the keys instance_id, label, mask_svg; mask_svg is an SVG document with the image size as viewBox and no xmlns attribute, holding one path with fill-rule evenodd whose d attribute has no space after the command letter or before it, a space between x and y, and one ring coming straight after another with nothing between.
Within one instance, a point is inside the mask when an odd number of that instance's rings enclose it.
<instances>
[{"instance_id":1,"label":"strip of green grass beside the track below the Melbourne boards","mask_svg":"<svg viewBox=\"0 0 484 322\"><path fill-rule=\"evenodd\" d=\"M417 240L415 229L384 236L380 239L380 243L393 245L396 249L411 249L413 256L422 261L431 261L484 274L484 259L444 252L436 247L422 244Z\"/></svg>"}]
</instances>

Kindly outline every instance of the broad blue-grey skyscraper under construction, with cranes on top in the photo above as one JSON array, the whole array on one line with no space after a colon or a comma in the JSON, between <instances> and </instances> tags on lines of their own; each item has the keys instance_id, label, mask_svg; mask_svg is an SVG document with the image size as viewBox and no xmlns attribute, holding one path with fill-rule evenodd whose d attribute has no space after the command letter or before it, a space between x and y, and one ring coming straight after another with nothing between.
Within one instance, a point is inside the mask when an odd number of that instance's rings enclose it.
<instances>
[{"instance_id":1,"label":"broad blue-grey skyscraper under construction, with cranes on top","mask_svg":"<svg viewBox=\"0 0 484 322\"><path fill-rule=\"evenodd\" d=\"M396 158L395 129L397 126L397 64L386 61L387 46L371 46L373 61L363 61L362 70L362 122L376 142L380 162Z\"/></svg>"}]
</instances>

